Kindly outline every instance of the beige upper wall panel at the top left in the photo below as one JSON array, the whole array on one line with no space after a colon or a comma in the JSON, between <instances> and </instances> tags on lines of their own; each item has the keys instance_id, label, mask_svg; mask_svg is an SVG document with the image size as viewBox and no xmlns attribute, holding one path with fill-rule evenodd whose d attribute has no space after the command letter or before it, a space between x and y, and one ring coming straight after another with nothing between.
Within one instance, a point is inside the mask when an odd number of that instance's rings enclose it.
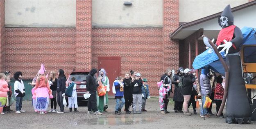
<instances>
[{"instance_id":1,"label":"beige upper wall panel at the top left","mask_svg":"<svg viewBox=\"0 0 256 129\"><path fill-rule=\"evenodd\" d=\"M6 27L75 27L76 0L5 0Z\"/></svg>"}]
</instances>

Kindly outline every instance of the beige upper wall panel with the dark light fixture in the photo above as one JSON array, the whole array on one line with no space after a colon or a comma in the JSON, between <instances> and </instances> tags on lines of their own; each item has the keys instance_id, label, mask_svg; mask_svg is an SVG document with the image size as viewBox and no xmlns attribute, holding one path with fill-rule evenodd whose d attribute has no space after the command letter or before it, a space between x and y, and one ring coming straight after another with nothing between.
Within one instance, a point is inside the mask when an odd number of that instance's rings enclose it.
<instances>
[{"instance_id":1,"label":"beige upper wall panel with the dark light fixture","mask_svg":"<svg viewBox=\"0 0 256 129\"><path fill-rule=\"evenodd\" d=\"M93 0L93 27L162 27L162 0Z\"/></svg>"}]
</instances>

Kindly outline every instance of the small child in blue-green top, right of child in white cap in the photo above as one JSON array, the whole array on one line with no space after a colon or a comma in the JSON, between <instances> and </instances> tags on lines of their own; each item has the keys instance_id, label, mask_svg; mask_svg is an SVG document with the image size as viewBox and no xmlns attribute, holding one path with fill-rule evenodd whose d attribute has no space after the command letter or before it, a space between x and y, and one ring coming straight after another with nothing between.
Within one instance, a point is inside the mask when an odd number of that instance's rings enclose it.
<instances>
[{"instance_id":1,"label":"small child in blue-green top, right of child in white cap","mask_svg":"<svg viewBox=\"0 0 256 129\"><path fill-rule=\"evenodd\" d=\"M149 91L149 89L148 89L148 85L147 85L147 78L143 78L142 79L142 81L143 81L143 85L142 85L142 89L141 89L141 91L142 91L142 109L141 109L141 111L147 111L146 109L145 109L145 107L146 107L146 100L148 99L148 98L150 98L150 91Z\"/></svg>"}]
</instances>

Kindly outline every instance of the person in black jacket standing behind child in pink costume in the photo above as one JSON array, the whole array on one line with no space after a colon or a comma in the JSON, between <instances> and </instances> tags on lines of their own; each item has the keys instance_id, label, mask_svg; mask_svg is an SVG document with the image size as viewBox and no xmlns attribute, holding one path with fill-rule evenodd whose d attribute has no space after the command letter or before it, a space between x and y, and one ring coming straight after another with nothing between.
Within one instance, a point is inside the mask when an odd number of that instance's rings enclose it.
<instances>
[{"instance_id":1,"label":"person in black jacket standing behind child in pink costume","mask_svg":"<svg viewBox=\"0 0 256 129\"><path fill-rule=\"evenodd\" d=\"M161 76L161 79L160 79L160 81L161 81L161 80L164 81L164 85L165 85L164 87L165 87L165 89L167 89L168 86L170 87L170 90L169 90L168 93L165 95L165 98L168 98L168 99L169 99L169 97L170 97L170 93L172 93L172 80L171 80L171 76L172 76L172 70L171 70L171 69L167 69L167 70L165 71L165 73L163 74L163 76ZM170 113L169 111L167 111L167 106L168 106L168 103L165 104L165 106L164 106L164 112L165 112L165 113Z\"/></svg>"}]
</instances>

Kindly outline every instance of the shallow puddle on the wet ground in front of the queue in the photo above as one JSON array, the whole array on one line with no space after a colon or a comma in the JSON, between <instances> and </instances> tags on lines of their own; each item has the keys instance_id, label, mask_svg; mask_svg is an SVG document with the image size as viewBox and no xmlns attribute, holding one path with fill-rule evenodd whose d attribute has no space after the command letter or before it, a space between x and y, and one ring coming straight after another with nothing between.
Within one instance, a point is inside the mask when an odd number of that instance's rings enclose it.
<instances>
[{"instance_id":1,"label":"shallow puddle on the wet ground in front of the queue","mask_svg":"<svg viewBox=\"0 0 256 129\"><path fill-rule=\"evenodd\" d=\"M153 122L153 118L140 118L140 117L99 117L86 120L88 125L137 125L145 124L146 122Z\"/></svg>"}]
</instances>

